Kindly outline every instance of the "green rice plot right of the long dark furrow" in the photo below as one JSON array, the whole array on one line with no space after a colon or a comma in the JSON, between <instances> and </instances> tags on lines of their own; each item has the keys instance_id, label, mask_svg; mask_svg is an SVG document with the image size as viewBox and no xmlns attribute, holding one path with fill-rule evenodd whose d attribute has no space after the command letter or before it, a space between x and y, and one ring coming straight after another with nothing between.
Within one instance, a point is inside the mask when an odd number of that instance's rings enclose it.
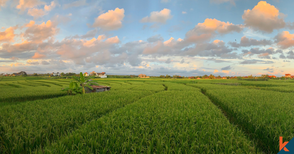
<instances>
[{"instance_id":1,"label":"green rice plot right of the long dark furrow","mask_svg":"<svg viewBox=\"0 0 294 154\"><path fill-rule=\"evenodd\" d=\"M240 125L265 153L279 152L279 136L294 137L294 95L238 86L193 84Z\"/></svg>"}]
</instances>

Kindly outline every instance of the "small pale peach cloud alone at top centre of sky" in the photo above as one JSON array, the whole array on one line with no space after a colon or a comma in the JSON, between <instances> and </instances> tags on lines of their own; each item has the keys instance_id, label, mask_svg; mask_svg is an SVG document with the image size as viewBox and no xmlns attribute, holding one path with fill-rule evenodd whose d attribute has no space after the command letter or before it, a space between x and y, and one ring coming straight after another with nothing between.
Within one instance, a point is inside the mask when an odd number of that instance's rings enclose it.
<instances>
[{"instance_id":1,"label":"small pale peach cloud alone at top centre of sky","mask_svg":"<svg viewBox=\"0 0 294 154\"><path fill-rule=\"evenodd\" d=\"M171 15L171 10L163 9L161 11L153 11L150 13L150 16L146 16L141 19L141 22L159 22L166 23L168 19L171 19L173 16Z\"/></svg>"}]
</instances>

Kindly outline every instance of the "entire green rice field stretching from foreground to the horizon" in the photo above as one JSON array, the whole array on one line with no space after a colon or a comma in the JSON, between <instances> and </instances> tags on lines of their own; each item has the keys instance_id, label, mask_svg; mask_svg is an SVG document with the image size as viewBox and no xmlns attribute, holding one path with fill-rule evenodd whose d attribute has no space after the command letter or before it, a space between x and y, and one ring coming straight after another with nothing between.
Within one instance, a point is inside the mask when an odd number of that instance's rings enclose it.
<instances>
[{"instance_id":1,"label":"entire green rice field stretching from foreground to the horizon","mask_svg":"<svg viewBox=\"0 0 294 154\"><path fill-rule=\"evenodd\" d=\"M14 79L14 80L13 80ZM294 137L289 81L94 79L0 82L0 153L278 153Z\"/></svg>"}]
</instances>

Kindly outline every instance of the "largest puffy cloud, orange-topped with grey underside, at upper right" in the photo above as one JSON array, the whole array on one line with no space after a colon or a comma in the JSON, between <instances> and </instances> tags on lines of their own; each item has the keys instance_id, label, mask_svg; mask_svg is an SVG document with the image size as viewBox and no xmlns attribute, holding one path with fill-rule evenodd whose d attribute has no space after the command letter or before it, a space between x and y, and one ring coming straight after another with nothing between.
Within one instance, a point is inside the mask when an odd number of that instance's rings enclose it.
<instances>
[{"instance_id":1,"label":"largest puffy cloud, orange-topped with grey underside, at upper right","mask_svg":"<svg viewBox=\"0 0 294 154\"><path fill-rule=\"evenodd\" d=\"M274 29L285 27L285 21L279 18L280 15L281 13L275 6L266 3L266 1L260 1L252 10L245 10L242 19L244 19L246 26L270 33Z\"/></svg>"}]
</instances>

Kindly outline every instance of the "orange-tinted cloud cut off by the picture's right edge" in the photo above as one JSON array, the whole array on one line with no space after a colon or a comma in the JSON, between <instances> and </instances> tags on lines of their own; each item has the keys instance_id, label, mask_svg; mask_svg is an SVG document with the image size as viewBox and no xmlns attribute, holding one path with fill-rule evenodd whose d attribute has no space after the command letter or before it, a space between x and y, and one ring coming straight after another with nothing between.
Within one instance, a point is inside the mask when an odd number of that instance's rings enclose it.
<instances>
[{"instance_id":1,"label":"orange-tinted cloud cut off by the picture's right edge","mask_svg":"<svg viewBox=\"0 0 294 154\"><path fill-rule=\"evenodd\" d=\"M294 34L290 34L289 31L283 31L275 36L276 42L280 48L289 48L294 46Z\"/></svg>"}]
</instances>

